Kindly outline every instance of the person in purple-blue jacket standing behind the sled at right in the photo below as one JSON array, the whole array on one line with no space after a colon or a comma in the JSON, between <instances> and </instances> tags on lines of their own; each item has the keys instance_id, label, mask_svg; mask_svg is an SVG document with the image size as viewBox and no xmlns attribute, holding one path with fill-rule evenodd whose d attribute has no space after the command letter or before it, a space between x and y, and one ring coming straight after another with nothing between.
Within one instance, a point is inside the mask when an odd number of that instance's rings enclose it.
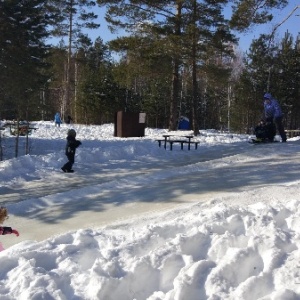
<instances>
[{"instance_id":1,"label":"person in purple-blue jacket standing behind the sled at right","mask_svg":"<svg viewBox=\"0 0 300 300\"><path fill-rule=\"evenodd\" d=\"M267 122L274 121L281 136L281 141L286 142L286 133L282 124L283 114L278 101L270 93L264 94L264 114Z\"/></svg>"}]
</instances>

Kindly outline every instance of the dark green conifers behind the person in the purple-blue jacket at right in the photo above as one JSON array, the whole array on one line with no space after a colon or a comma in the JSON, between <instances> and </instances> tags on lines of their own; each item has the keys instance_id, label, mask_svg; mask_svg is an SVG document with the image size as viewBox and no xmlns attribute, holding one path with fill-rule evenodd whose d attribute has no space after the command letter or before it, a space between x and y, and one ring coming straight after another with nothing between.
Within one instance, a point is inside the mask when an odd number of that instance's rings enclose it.
<instances>
[{"instance_id":1,"label":"dark green conifers behind the person in the purple-blue jacket at right","mask_svg":"<svg viewBox=\"0 0 300 300\"><path fill-rule=\"evenodd\" d=\"M262 117L265 92L280 103L287 129L300 127L300 51L298 42L286 33L281 41L270 43L270 36L254 40L245 57L245 67L235 85L235 128L248 133Z\"/></svg>"}]
</instances>

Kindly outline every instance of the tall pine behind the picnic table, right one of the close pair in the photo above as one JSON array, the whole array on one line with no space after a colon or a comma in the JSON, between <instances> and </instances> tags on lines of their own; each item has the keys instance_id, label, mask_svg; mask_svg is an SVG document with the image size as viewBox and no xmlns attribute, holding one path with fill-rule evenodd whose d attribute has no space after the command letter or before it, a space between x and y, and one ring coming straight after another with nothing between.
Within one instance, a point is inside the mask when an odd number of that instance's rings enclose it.
<instances>
[{"instance_id":1,"label":"tall pine behind the picnic table, right one of the close pair","mask_svg":"<svg viewBox=\"0 0 300 300\"><path fill-rule=\"evenodd\" d=\"M208 73L204 69L215 70L218 75L226 74L224 85L227 85L230 75L227 60L230 61L234 56L230 45L236 43L236 39L230 33L228 20L222 14L224 4L226 1L212 3L211 1L190 0L186 1L185 5L183 44L186 52L185 60L192 68L190 107L195 135L199 132L198 123L206 117L204 111L201 112L200 109L201 102L203 102L201 90L207 89L204 81L200 80ZM221 86L221 80L219 86ZM216 115L216 118L220 116Z\"/></svg>"}]
</instances>

